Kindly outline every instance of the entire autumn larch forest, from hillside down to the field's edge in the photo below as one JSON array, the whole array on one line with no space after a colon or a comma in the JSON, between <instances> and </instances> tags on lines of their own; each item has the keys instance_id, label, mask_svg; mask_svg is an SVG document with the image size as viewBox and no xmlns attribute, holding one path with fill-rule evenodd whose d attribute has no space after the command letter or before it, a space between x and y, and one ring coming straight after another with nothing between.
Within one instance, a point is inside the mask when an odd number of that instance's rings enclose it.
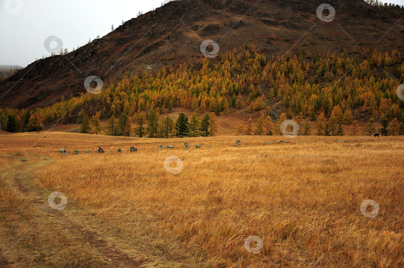
<instances>
[{"instance_id":1,"label":"entire autumn larch forest, from hillside down to the field's edge","mask_svg":"<svg viewBox=\"0 0 404 268\"><path fill-rule=\"evenodd\" d=\"M396 94L404 82L400 52L354 51L320 55L306 51L303 44L299 55L267 59L249 43L221 53L216 62L201 58L179 68L168 65L155 75L128 71L104 85L100 94L62 99L33 111L0 110L1 127L13 133L81 123L81 133L212 136L217 117L248 108L248 113L259 113L259 119L240 122L234 134L280 134L280 124L293 119L303 135L371 135L377 131L376 121L382 122L383 135L403 135L404 103ZM191 125L164 116L175 107L194 111ZM107 120L103 130L102 120ZM179 132L183 124L189 127Z\"/></svg>"}]
</instances>

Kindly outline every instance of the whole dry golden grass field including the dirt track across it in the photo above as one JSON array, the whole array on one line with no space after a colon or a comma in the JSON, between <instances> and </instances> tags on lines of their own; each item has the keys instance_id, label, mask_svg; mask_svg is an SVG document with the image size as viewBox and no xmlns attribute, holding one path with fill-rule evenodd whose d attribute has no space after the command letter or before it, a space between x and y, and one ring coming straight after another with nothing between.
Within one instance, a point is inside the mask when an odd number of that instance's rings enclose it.
<instances>
[{"instance_id":1,"label":"whole dry golden grass field including the dirt track across it","mask_svg":"<svg viewBox=\"0 0 404 268\"><path fill-rule=\"evenodd\" d=\"M236 138L1 134L0 267L404 267L403 136Z\"/></svg>"}]
</instances>

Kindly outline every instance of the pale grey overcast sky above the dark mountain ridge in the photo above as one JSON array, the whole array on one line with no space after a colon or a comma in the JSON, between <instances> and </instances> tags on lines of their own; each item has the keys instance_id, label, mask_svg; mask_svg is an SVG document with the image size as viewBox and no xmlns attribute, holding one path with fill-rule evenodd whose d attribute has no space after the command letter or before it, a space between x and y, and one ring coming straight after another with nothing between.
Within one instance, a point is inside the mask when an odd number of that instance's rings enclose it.
<instances>
[{"instance_id":1,"label":"pale grey overcast sky above the dark mountain ridge","mask_svg":"<svg viewBox=\"0 0 404 268\"><path fill-rule=\"evenodd\" d=\"M167 0L0 0L0 64L25 67L42 55L48 36L69 51L111 31L111 25ZM382 0L383 1L383 0ZM383 1L385 2L385 1ZM404 5L404 0L387 0ZM52 43L53 47L56 43Z\"/></svg>"}]
</instances>

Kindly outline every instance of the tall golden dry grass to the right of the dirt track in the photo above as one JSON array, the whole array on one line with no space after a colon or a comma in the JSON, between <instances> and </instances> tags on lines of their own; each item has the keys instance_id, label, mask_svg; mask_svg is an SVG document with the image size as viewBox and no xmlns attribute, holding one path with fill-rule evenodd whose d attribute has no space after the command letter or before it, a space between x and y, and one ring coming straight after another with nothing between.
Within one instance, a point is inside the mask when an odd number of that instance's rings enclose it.
<instances>
[{"instance_id":1,"label":"tall golden dry grass to the right of the dirt track","mask_svg":"<svg viewBox=\"0 0 404 268\"><path fill-rule=\"evenodd\" d=\"M33 139L3 138L0 153ZM239 147L234 139L48 133L31 151L54 161L33 175L124 252L162 266L404 266L402 137L267 145L285 137L243 136ZM202 147L185 149L185 141ZM176 148L160 151L160 143ZM94 153L98 145L106 153ZM59 147L80 154L61 156ZM183 161L179 174L164 167L170 155ZM361 213L366 199L380 205L376 218ZM263 241L259 254L244 248L251 235Z\"/></svg>"}]
</instances>

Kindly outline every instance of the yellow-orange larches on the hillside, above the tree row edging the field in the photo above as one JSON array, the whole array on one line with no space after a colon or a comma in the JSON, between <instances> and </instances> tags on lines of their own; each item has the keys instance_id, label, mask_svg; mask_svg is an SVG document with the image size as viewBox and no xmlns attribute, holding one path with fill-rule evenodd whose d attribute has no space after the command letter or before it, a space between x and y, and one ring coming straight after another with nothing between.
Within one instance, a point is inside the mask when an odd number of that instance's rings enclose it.
<instances>
[{"instance_id":1,"label":"yellow-orange larches on the hillside, above the tree row edging the field","mask_svg":"<svg viewBox=\"0 0 404 268\"><path fill-rule=\"evenodd\" d=\"M33 117L29 125L26 115L22 119L27 111L0 110L0 128L6 128L8 115L15 117L17 131L37 131L56 122L73 124L81 110L90 118L96 113L100 120L126 115L135 123L135 114L137 117L143 112L149 121L152 110L163 115L181 107L219 116L230 108L246 108L249 113L263 114L265 107L276 102L288 119L301 114L305 121L316 121L324 114L331 134L338 133L339 124L351 125L354 120L374 118L391 124L397 119L404 123L404 102L396 95L397 87L404 83L400 52L370 51L359 46L353 50L352 57L343 49L340 54L321 55L302 46L298 55L287 53L267 59L254 44L245 44L239 50L219 54L217 63L203 58L195 66L168 66L154 75L128 70L105 81L98 95L62 96L52 106L29 111ZM9 129L15 131L14 127Z\"/></svg>"}]
</instances>

